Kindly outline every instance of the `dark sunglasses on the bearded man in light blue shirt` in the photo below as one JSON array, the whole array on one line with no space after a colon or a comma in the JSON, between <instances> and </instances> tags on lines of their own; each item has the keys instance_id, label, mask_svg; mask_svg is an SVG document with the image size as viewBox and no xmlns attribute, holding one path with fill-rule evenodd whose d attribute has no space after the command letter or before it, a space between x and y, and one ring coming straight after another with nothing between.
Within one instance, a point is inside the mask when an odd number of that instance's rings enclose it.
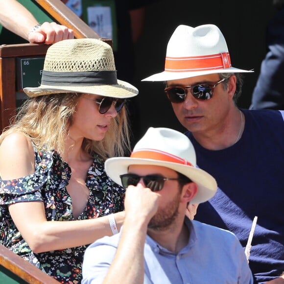
<instances>
[{"instance_id":1,"label":"dark sunglasses on the bearded man in light blue shirt","mask_svg":"<svg viewBox=\"0 0 284 284\"><path fill-rule=\"evenodd\" d=\"M125 173L119 177L121 179L121 184L125 189L128 186L137 186L142 179L144 185L152 191L160 191L163 189L165 181L180 180L179 178L166 178L158 174L140 176L134 173Z\"/></svg>"}]
</instances>

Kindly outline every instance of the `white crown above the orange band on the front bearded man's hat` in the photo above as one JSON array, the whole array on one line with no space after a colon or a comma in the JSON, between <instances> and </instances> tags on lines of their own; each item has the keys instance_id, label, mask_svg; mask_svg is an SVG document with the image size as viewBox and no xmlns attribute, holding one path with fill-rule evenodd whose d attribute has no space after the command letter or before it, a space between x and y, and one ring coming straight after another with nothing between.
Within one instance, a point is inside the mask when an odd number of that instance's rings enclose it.
<instances>
[{"instance_id":1,"label":"white crown above the orange band on the front bearded man's hat","mask_svg":"<svg viewBox=\"0 0 284 284\"><path fill-rule=\"evenodd\" d=\"M177 156L196 167L196 154L189 138L173 129L149 127L141 140L136 143L133 152L140 149L162 151Z\"/></svg>"}]
</instances>

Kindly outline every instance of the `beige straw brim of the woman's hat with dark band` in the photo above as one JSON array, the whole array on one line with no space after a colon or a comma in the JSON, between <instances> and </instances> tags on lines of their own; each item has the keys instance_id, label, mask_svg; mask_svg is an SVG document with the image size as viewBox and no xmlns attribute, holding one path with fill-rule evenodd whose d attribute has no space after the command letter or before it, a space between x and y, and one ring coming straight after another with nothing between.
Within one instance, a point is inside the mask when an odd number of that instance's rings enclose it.
<instances>
[{"instance_id":1,"label":"beige straw brim of the woman's hat with dark band","mask_svg":"<svg viewBox=\"0 0 284 284\"><path fill-rule=\"evenodd\" d=\"M24 93L29 97L60 93L84 93L109 97L128 98L138 95L138 89L131 84L118 80L116 85L93 86L48 86L40 85L36 88L24 88Z\"/></svg>"}]
</instances>

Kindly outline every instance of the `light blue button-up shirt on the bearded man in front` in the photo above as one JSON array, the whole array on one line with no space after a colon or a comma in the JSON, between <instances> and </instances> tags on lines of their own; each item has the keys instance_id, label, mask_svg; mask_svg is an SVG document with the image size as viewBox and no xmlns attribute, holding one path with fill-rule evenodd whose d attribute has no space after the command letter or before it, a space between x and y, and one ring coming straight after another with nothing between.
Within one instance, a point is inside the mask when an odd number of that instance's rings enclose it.
<instances>
[{"instance_id":1,"label":"light blue button-up shirt on the bearded man in front","mask_svg":"<svg viewBox=\"0 0 284 284\"><path fill-rule=\"evenodd\" d=\"M144 284L252 284L244 249L229 231L185 219L190 237L174 254L146 237ZM103 237L85 251L82 284L102 283L114 259L120 233Z\"/></svg>"}]
</instances>

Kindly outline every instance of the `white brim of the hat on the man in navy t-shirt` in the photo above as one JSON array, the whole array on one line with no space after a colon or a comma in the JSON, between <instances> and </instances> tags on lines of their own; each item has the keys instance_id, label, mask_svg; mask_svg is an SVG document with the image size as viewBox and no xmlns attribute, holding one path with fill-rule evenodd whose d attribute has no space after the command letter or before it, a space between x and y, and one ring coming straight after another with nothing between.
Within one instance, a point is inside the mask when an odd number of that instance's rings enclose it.
<instances>
[{"instance_id":1,"label":"white brim of the hat on the man in navy t-shirt","mask_svg":"<svg viewBox=\"0 0 284 284\"><path fill-rule=\"evenodd\" d=\"M207 70L207 71L188 71L188 72L169 72L169 71L163 71L157 74L153 74L145 79L142 79L141 81L169 81L169 80L179 80L179 79L185 79L185 78L192 78L196 76L202 76L202 75L210 75L210 74L216 74L216 73L250 73L254 72L253 70L243 70L238 68L227 68L227 69L216 69L216 70Z\"/></svg>"}]
</instances>

